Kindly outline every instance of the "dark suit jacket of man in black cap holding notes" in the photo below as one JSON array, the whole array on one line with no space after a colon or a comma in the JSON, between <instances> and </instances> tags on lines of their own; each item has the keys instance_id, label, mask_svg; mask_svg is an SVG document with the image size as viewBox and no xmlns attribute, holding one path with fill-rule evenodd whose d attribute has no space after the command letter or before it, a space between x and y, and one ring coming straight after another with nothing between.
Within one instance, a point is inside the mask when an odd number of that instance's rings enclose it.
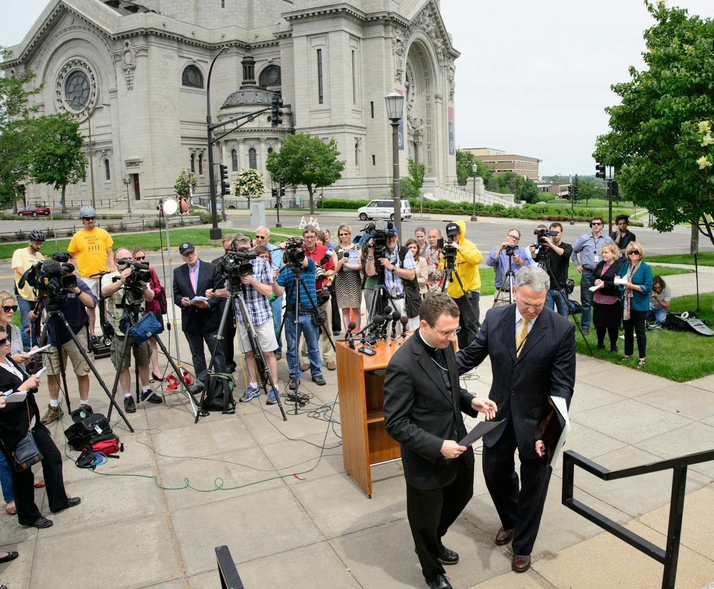
<instances>
[{"instance_id":1,"label":"dark suit jacket of man in black cap holding notes","mask_svg":"<svg viewBox=\"0 0 714 589\"><path fill-rule=\"evenodd\" d=\"M202 331L216 330L221 324L221 311L223 299L213 297L208 301L208 309L199 309L195 304L188 307L181 306L181 298L194 296L204 297L209 288L216 289L225 286L225 281L218 274L216 266L210 262L203 262L198 266L198 281L196 292L193 292L191 277L188 276L188 264L183 264L174 270L174 303L181 307L181 329L187 333L200 333Z\"/></svg>"}]
</instances>

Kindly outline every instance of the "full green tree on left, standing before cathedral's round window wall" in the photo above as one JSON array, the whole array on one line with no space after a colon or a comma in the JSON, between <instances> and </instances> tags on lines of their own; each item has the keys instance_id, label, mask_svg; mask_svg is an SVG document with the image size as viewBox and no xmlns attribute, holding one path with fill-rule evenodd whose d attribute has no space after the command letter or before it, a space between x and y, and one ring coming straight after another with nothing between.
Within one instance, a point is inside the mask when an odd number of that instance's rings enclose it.
<instances>
[{"instance_id":1,"label":"full green tree on left, standing before cathedral's round window wall","mask_svg":"<svg viewBox=\"0 0 714 589\"><path fill-rule=\"evenodd\" d=\"M62 212L67 212L67 185L84 178L87 164L82 153L84 138L79 134L79 121L69 113L62 113L36 118L33 126L36 149L32 158L32 180L61 190Z\"/></svg>"}]
</instances>

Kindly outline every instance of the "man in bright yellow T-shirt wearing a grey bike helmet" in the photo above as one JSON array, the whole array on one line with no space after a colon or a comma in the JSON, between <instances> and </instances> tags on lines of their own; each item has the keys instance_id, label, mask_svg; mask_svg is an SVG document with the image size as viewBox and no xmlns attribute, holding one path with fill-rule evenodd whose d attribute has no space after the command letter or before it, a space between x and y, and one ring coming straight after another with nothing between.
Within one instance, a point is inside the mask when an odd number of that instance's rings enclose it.
<instances>
[{"instance_id":1,"label":"man in bright yellow T-shirt wearing a grey bike helmet","mask_svg":"<svg viewBox=\"0 0 714 589\"><path fill-rule=\"evenodd\" d=\"M77 274L84 280L94 296L99 299L99 278L90 278L97 272L114 272L114 251L111 246L114 240L104 229L94 226L96 210L93 207L79 209L79 217L84 227L76 232L69 242L67 251L70 260L77 269ZM109 258L109 264L107 264ZM89 314L89 334L94 337L95 309L87 309Z\"/></svg>"}]
</instances>

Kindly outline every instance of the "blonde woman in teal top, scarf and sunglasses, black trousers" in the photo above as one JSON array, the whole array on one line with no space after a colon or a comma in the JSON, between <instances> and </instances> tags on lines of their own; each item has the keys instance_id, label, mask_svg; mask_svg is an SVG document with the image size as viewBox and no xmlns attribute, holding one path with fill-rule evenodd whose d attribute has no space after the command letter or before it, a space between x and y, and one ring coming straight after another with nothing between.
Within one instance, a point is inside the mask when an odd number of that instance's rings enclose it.
<instances>
[{"instance_id":1,"label":"blonde woman in teal top, scarf and sunglasses, black trousers","mask_svg":"<svg viewBox=\"0 0 714 589\"><path fill-rule=\"evenodd\" d=\"M642 246L636 242L628 243L625 257L628 262L623 264L618 275L627 280L620 285L623 291L623 329L625 330L625 357L627 360L634 351L633 332L637 335L637 350L640 361L637 367L645 364L645 349L647 336L645 334L645 316L650 309L650 292L652 292L652 269L642 261L645 255Z\"/></svg>"}]
</instances>

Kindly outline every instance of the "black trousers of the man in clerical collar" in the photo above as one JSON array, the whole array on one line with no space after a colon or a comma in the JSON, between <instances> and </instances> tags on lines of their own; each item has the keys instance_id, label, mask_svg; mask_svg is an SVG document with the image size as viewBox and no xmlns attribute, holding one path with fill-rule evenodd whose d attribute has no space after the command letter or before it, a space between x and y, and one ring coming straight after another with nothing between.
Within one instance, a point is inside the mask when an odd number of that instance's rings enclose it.
<instances>
[{"instance_id":1,"label":"black trousers of the man in clerical collar","mask_svg":"<svg viewBox=\"0 0 714 589\"><path fill-rule=\"evenodd\" d=\"M406 515L427 583L439 573L443 575L444 568L438 561L439 542L473 496L473 468L461 457L456 460L456 479L446 487L423 491L406 483Z\"/></svg>"}]
</instances>

